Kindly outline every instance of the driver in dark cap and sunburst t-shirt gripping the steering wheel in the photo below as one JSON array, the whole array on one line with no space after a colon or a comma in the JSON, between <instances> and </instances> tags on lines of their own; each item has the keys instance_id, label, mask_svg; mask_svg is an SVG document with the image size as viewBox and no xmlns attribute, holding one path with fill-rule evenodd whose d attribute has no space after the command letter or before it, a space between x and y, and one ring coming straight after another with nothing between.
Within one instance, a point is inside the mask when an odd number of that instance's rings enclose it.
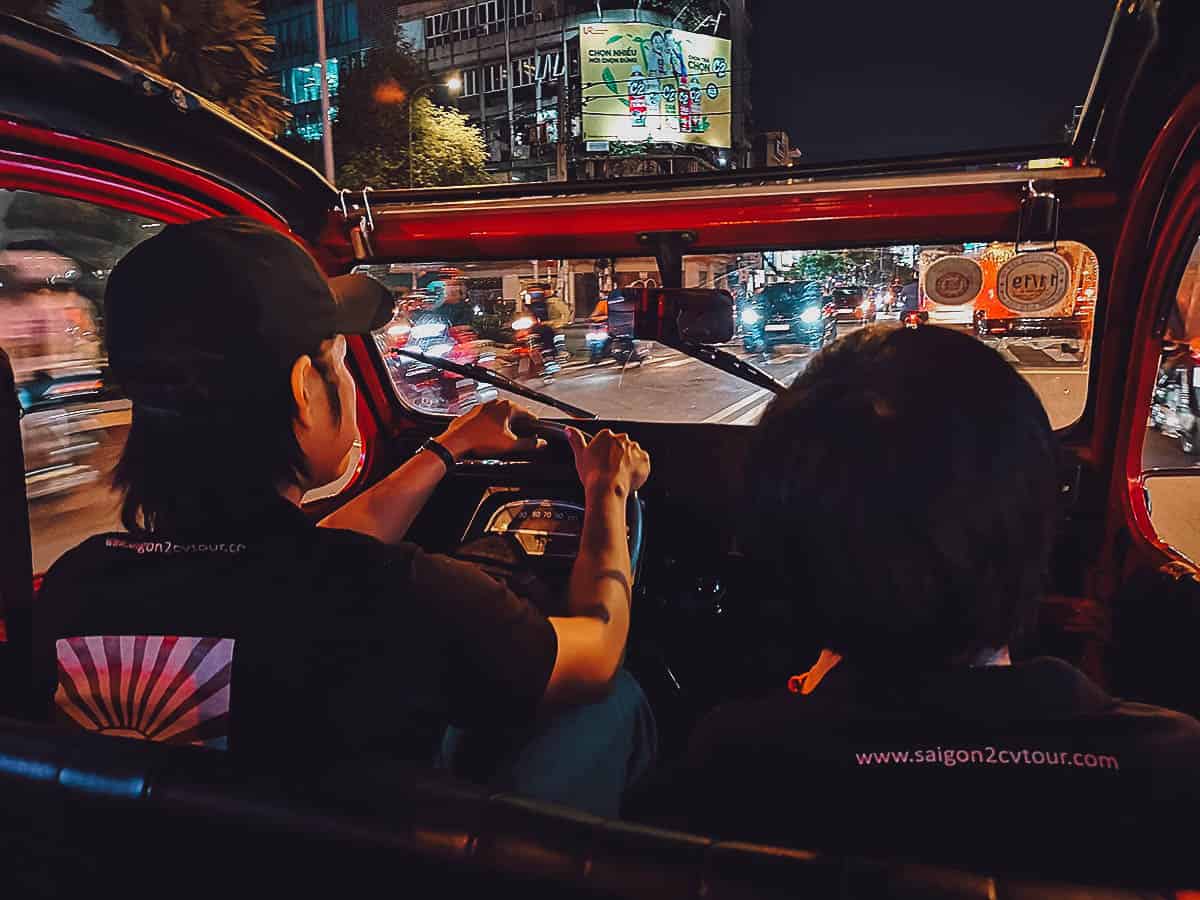
<instances>
[{"instance_id":1,"label":"driver in dark cap and sunburst t-shirt gripping the steering wheel","mask_svg":"<svg viewBox=\"0 0 1200 900\"><path fill-rule=\"evenodd\" d=\"M562 742L547 708L592 703L598 714L575 713L571 727L602 728L590 745L607 758L557 754L592 774L508 786L616 811L653 736L619 668L625 499L649 474L636 443L572 432L584 534L570 614L546 618L479 569L402 540L456 458L532 446L510 427L528 413L506 401L454 421L325 527L300 510L350 458L342 335L390 320L382 284L326 280L287 235L212 218L131 251L104 302L112 370L133 403L115 475L127 530L84 541L46 576L35 674L47 712L272 763L425 762L448 724L527 722L534 736L541 724Z\"/></svg>"}]
</instances>

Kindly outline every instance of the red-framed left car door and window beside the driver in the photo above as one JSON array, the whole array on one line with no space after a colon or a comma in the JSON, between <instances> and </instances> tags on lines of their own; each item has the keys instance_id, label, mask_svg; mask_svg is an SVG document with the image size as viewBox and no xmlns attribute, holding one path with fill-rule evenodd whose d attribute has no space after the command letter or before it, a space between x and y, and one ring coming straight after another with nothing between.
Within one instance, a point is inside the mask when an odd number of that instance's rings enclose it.
<instances>
[{"instance_id":1,"label":"red-framed left car door and window beside the driver","mask_svg":"<svg viewBox=\"0 0 1200 900\"><path fill-rule=\"evenodd\" d=\"M119 527L110 475L131 412L108 374L102 298L120 257L167 224L215 215L288 230L331 268L350 242L317 173L98 48L0 17L0 347L16 376L41 574ZM169 302L170 286L162 290ZM2 602L0 653L16 660L5 679L13 688L28 671L19 660L32 599L6 590Z\"/></svg>"}]
</instances>

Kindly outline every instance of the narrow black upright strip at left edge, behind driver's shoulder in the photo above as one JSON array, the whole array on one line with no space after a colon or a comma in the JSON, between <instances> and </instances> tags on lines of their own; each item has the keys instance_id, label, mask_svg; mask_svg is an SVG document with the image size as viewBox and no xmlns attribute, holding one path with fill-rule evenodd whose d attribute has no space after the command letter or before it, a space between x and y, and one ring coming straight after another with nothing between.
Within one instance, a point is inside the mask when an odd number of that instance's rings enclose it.
<instances>
[{"instance_id":1,"label":"narrow black upright strip at left edge, behind driver's shoulder","mask_svg":"<svg viewBox=\"0 0 1200 900\"><path fill-rule=\"evenodd\" d=\"M29 698L34 563L25 503L20 403L8 355L0 348L0 714Z\"/></svg>"}]
</instances>

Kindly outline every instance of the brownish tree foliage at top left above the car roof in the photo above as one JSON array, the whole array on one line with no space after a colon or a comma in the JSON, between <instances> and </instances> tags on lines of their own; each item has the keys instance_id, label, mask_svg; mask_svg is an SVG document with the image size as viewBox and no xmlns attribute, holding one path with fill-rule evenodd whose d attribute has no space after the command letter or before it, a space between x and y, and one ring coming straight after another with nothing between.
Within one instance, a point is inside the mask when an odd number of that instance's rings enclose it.
<instances>
[{"instance_id":1,"label":"brownish tree foliage at top left above the car roof","mask_svg":"<svg viewBox=\"0 0 1200 900\"><path fill-rule=\"evenodd\" d=\"M275 38L256 0L92 0L119 49L211 100L251 128L275 137L287 122L278 85L266 73Z\"/></svg>"}]
</instances>

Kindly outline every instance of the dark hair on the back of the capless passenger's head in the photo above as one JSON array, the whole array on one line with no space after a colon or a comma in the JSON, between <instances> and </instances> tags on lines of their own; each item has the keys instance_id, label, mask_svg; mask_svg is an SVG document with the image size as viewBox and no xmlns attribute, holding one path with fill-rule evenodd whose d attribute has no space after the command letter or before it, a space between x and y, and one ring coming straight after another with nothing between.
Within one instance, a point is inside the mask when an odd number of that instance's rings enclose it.
<instances>
[{"instance_id":1,"label":"dark hair on the back of the capless passenger's head","mask_svg":"<svg viewBox=\"0 0 1200 900\"><path fill-rule=\"evenodd\" d=\"M752 552L790 601L793 646L937 667L1034 624L1056 440L1032 388L979 341L848 335L772 403L746 472Z\"/></svg>"}]
</instances>

